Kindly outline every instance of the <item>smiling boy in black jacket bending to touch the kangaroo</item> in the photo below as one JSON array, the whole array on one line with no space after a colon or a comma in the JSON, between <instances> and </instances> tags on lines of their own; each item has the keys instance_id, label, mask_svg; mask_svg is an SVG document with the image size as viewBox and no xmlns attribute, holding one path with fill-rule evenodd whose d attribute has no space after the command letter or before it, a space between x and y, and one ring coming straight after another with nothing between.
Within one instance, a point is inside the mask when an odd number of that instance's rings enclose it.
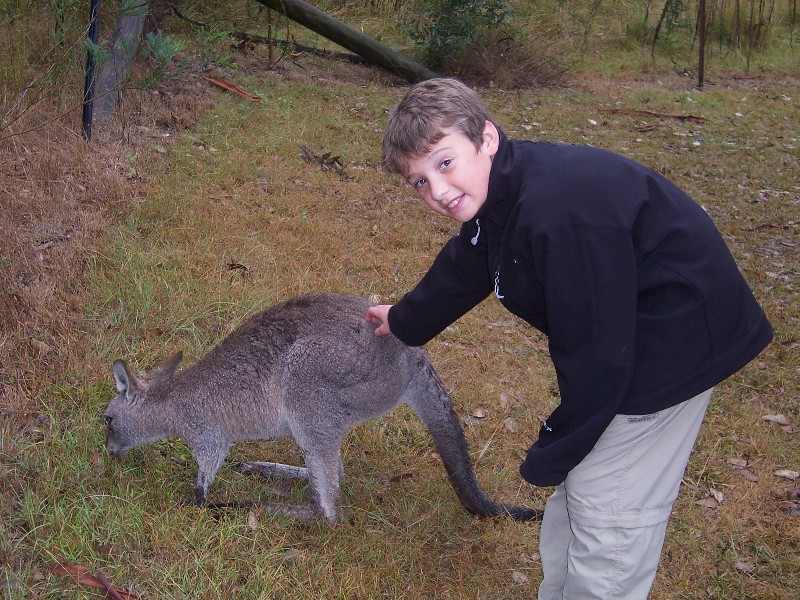
<instances>
[{"instance_id":1,"label":"smiling boy in black jacket bending to touch the kangaroo","mask_svg":"<svg viewBox=\"0 0 800 600\"><path fill-rule=\"evenodd\" d=\"M772 328L703 209L591 147L507 138L453 79L392 110L383 161L461 222L376 335L422 345L492 291L548 337L561 395L520 473L557 486L539 598L646 598L711 391Z\"/></svg>"}]
</instances>

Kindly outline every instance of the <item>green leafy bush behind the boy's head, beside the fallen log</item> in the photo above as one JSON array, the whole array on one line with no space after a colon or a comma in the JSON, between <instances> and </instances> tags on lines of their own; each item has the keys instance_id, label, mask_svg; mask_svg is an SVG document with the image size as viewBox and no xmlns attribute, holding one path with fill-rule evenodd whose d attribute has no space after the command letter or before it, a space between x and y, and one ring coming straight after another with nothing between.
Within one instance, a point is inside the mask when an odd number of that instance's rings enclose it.
<instances>
[{"instance_id":1,"label":"green leafy bush behind the boy's head, beside the fallen log","mask_svg":"<svg viewBox=\"0 0 800 600\"><path fill-rule=\"evenodd\" d=\"M417 17L405 28L434 69L468 48L513 37L514 13L504 0L417 0L416 4Z\"/></svg>"}]
</instances>

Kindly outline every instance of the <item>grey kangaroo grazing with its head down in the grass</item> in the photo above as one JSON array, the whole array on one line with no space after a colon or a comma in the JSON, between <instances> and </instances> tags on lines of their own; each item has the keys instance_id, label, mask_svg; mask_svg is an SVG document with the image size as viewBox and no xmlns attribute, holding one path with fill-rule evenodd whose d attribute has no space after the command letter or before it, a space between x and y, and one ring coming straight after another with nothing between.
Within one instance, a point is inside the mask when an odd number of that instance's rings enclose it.
<instances>
[{"instance_id":1,"label":"grey kangaroo grazing with its head down in the grass","mask_svg":"<svg viewBox=\"0 0 800 600\"><path fill-rule=\"evenodd\" d=\"M450 482L476 515L530 520L541 511L507 506L478 486L459 418L420 348L376 337L363 298L308 294L246 321L192 367L176 372L181 353L139 377L117 360L117 395L104 418L106 447L122 458L143 444L177 436L197 461L196 500L237 440L291 435L305 467L244 463L245 472L309 483L310 504L265 503L299 521L342 520L340 444L347 430L407 403L433 436Z\"/></svg>"}]
</instances>

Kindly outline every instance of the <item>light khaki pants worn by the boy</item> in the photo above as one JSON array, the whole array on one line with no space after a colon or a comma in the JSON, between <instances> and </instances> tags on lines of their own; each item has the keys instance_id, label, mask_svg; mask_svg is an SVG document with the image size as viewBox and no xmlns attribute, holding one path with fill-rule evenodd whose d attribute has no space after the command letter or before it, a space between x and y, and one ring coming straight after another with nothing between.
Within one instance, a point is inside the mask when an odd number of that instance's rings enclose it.
<instances>
[{"instance_id":1,"label":"light khaki pants worn by the boy","mask_svg":"<svg viewBox=\"0 0 800 600\"><path fill-rule=\"evenodd\" d=\"M617 415L547 501L539 600L644 600L712 390Z\"/></svg>"}]
</instances>

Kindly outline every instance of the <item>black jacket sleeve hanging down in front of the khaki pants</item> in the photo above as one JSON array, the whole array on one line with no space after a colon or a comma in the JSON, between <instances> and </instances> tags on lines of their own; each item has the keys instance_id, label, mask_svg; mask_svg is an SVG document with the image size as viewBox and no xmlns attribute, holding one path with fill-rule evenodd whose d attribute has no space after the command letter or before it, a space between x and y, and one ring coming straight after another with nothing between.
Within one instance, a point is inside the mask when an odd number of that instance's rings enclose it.
<instances>
[{"instance_id":1,"label":"black jacket sleeve hanging down in front of the khaki pants","mask_svg":"<svg viewBox=\"0 0 800 600\"><path fill-rule=\"evenodd\" d=\"M520 467L558 485L594 447L626 396L636 336L636 257L628 231L563 228L532 241L545 290L561 403Z\"/></svg>"}]
</instances>

